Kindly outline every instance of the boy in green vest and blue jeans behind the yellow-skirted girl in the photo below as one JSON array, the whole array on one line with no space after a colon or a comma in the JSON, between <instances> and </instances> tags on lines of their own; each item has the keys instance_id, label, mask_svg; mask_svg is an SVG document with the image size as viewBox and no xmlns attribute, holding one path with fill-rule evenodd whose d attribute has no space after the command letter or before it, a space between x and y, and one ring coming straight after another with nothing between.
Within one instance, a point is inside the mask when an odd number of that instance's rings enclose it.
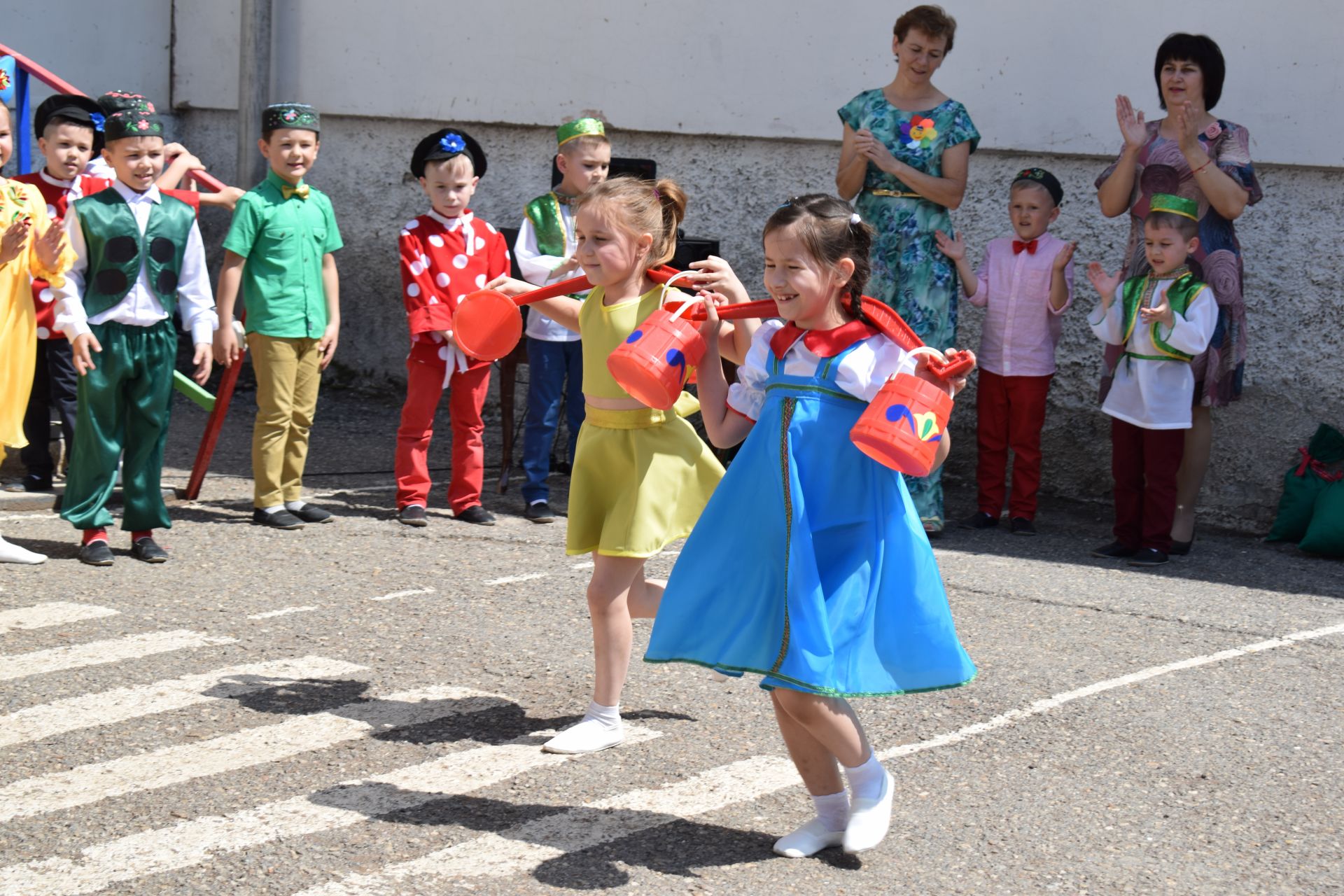
<instances>
[{"instance_id":1,"label":"boy in green vest and blue jeans behind the yellow-skirted girl","mask_svg":"<svg viewBox=\"0 0 1344 896\"><path fill-rule=\"evenodd\" d=\"M569 121L555 130L555 165L562 180L555 189L527 204L513 246L523 279L535 286L583 275L574 258L578 240L574 238L570 203L606 180L612 167L612 144L598 118ZM528 520L551 523L555 514L548 502L546 477L551 472L551 442L559 423L562 395L569 416L570 439L564 454L569 462L574 459L574 445L583 423L583 348L579 334L544 314L528 314L527 364L527 423L523 431L527 481L523 484L523 500L527 501Z\"/></svg>"}]
</instances>

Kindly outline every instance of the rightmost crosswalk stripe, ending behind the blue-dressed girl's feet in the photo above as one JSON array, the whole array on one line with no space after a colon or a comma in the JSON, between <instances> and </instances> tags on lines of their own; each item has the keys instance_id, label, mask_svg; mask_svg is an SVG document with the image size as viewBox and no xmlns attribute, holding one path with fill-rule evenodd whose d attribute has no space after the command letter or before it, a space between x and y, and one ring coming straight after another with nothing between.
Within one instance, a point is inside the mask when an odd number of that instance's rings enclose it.
<instances>
[{"instance_id":1,"label":"rightmost crosswalk stripe, ending behind the blue-dressed girl's feet","mask_svg":"<svg viewBox=\"0 0 1344 896\"><path fill-rule=\"evenodd\" d=\"M737 802L758 799L790 785L798 772L781 756L754 756L710 768L683 782L618 797L515 825L375 875L348 875L296 896L390 896L401 881L434 877L507 877L544 861L629 837L649 827L700 815Z\"/></svg>"}]
</instances>

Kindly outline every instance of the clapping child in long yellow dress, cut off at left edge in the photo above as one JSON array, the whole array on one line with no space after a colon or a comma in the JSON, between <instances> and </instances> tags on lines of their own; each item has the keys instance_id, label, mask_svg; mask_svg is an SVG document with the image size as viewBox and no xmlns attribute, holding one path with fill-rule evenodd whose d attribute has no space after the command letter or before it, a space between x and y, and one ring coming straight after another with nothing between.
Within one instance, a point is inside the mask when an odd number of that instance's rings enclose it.
<instances>
[{"instance_id":1,"label":"clapping child in long yellow dress, cut off at left edge","mask_svg":"<svg viewBox=\"0 0 1344 896\"><path fill-rule=\"evenodd\" d=\"M9 110L0 106L0 168L13 153ZM40 234L40 236L39 236ZM47 203L31 184L0 177L0 443L23 447L23 412L32 390L38 329L32 278L59 286L74 257L65 231L52 227ZM42 563L40 553L0 537L0 563Z\"/></svg>"}]
</instances>

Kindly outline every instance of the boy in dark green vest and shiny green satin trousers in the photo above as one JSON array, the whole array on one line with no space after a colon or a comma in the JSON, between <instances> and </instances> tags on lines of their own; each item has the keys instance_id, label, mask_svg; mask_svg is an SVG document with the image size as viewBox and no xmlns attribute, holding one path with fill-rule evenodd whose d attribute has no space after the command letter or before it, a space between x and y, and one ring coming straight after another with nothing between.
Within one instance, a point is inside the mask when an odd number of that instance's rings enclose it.
<instances>
[{"instance_id":1,"label":"boy in dark green vest and shiny green satin trousers","mask_svg":"<svg viewBox=\"0 0 1344 896\"><path fill-rule=\"evenodd\" d=\"M121 528L130 531L133 557L163 563L168 553L153 529L172 527L159 488L177 357L172 313L191 333L202 384L218 318L196 214L155 185L163 124L152 113L121 111L108 117L103 137L117 180L66 212L75 263L56 289L56 328L79 373L60 516L83 531L81 562L112 566L108 498L125 453Z\"/></svg>"}]
</instances>

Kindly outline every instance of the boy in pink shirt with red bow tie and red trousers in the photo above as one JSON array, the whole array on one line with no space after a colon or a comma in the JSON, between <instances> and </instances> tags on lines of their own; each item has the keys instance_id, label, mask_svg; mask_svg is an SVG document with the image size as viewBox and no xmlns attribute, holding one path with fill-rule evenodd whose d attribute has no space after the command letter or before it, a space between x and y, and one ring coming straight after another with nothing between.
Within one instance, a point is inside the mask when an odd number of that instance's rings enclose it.
<instances>
[{"instance_id":1,"label":"boy in pink shirt with red bow tie and red trousers","mask_svg":"<svg viewBox=\"0 0 1344 896\"><path fill-rule=\"evenodd\" d=\"M960 235L935 234L938 250L957 265L966 298L986 309L977 355L978 509L962 520L966 528L999 525L1012 449L1009 525L1013 535L1036 535L1046 395L1055 375L1060 316L1074 298L1075 243L1048 232L1063 196L1059 180L1044 168L1017 172L1008 197L1015 235L991 240L978 271L970 270Z\"/></svg>"}]
</instances>

